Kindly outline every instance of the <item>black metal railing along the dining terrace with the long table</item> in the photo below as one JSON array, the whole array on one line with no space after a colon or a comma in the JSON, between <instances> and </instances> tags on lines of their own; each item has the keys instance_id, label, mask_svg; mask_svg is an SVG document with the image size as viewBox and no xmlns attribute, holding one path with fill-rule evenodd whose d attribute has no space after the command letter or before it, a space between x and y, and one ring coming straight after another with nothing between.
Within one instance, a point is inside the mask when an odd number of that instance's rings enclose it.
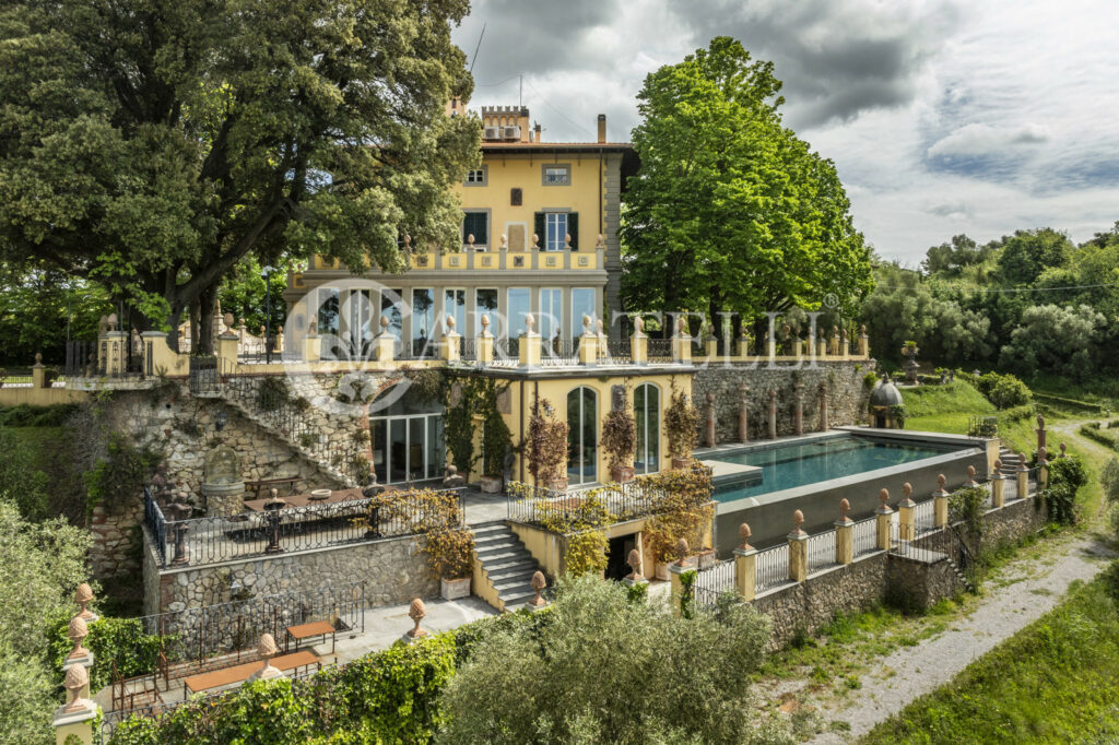
<instances>
[{"instance_id":1,"label":"black metal railing along the dining terrace with the long table","mask_svg":"<svg viewBox=\"0 0 1119 745\"><path fill-rule=\"evenodd\" d=\"M442 490L439 493L453 494L458 501L457 519L444 527L464 526L461 491ZM402 491L395 498L388 494L388 501L383 497L361 498L227 517L163 519L162 522L160 513L152 524L145 521L145 525L152 531L163 566L215 564L422 532L424 521L431 517L426 511L430 502L410 491Z\"/></svg>"}]
</instances>

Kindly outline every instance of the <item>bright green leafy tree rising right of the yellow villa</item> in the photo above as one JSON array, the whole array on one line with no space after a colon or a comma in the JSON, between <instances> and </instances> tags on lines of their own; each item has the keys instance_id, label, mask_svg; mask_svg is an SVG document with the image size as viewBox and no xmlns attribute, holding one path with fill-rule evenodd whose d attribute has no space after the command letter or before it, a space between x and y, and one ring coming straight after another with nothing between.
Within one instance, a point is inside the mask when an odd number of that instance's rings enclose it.
<instances>
[{"instance_id":1,"label":"bright green leafy tree rising right of the yellow villa","mask_svg":"<svg viewBox=\"0 0 1119 745\"><path fill-rule=\"evenodd\" d=\"M871 287L834 164L782 126L772 63L716 37L646 77L621 237L630 309L746 318Z\"/></svg>"}]
</instances>

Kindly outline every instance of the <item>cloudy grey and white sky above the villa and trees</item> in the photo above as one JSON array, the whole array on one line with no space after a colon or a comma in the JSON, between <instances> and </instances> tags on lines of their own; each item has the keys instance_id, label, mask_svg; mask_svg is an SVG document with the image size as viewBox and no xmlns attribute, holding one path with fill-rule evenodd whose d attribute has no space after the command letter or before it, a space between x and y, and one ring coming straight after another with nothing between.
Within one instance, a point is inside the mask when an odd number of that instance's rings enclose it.
<instances>
[{"instance_id":1,"label":"cloudy grey and white sky above the villa and trees","mask_svg":"<svg viewBox=\"0 0 1119 745\"><path fill-rule=\"evenodd\" d=\"M786 123L835 161L856 226L915 265L957 233L1119 219L1116 0L473 0L472 106L523 101L545 136L612 141L647 73L712 36L784 81Z\"/></svg>"}]
</instances>

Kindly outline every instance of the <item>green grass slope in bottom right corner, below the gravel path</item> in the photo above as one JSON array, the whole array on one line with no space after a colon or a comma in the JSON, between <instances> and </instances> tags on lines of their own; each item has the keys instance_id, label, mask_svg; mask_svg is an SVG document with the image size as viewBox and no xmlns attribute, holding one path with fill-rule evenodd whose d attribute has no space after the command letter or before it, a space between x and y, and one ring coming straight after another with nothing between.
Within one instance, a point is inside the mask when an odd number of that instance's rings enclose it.
<instances>
[{"instance_id":1,"label":"green grass slope in bottom right corner, below the gravel path","mask_svg":"<svg viewBox=\"0 0 1119 745\"><path fill-rule=\"evenodd\" d=\"M1119 609L1098 578L862 741L1119 742Z\"/></svg>"}]
</instances>

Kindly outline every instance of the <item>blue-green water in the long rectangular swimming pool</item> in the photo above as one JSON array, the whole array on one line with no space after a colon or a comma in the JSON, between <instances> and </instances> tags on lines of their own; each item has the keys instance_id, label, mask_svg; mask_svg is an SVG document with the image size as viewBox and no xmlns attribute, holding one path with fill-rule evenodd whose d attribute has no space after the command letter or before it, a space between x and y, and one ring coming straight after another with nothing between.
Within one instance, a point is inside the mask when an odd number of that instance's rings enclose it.
<instances>
[{"instance_id":1,"label":"blue-green water in the long rectangular swimming pool","mask_svg":"<svg viewBox=\"0 0 1119 745\"><path fill-rule=\"evenodd\" d=\"M956 450L933 444L912 445L877 442L863 437L830 437L796 445L780 445L706 458L762 469L761 482L726 484L715 490L715 499L730 502L744 497L758 497L784 489L794 489L819 481L901 465L942 455Z\"/></svg>"}]
</instances>

